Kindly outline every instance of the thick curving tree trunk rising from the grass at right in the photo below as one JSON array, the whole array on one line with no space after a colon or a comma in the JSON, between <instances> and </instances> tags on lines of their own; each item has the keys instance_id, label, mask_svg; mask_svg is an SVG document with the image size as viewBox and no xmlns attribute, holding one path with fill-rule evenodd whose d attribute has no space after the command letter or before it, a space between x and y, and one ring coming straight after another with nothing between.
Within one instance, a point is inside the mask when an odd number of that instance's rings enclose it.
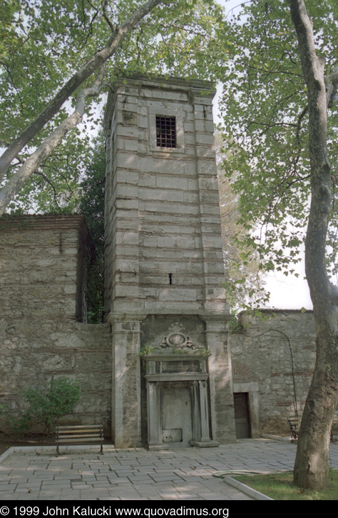
<instances>
[{"instance_id":1,"label":"thick curving tree trunk rising from the grass at right","mask_svg":"<svg viewBox=\"0 0 338 518\"><path fill-rule=\"evenodd\" d=\"M327 93L324 62L316 54L304 0L290 0L309 106L312 200L305 242L305 272L314 307L317 356L304 407L295 460L299 487L327 484L329 439L338 394L337 287L329 282L326 238L331 206L331 166L327 156Z\"/></svg>"}]
</instances>

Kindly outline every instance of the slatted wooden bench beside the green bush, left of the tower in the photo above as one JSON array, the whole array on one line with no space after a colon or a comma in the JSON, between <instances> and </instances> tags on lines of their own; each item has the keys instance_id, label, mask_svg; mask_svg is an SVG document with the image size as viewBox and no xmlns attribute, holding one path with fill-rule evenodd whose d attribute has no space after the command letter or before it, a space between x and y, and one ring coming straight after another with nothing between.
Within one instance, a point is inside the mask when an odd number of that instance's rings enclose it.
<instances>
[{"instance_id":1,"label":"slatted wooden bench beside the green bush, left of the tower","mask_svg":"<svg viewBox=\"0 0 338 518\"><path fill-rule=\"evenodd\" d=\"M83 424L76 427L56 428L56 454L62 444L76 444L85 442L100 442L100 454L103 455L103 426L102 424Z\"/></svg>"}]
</instances>

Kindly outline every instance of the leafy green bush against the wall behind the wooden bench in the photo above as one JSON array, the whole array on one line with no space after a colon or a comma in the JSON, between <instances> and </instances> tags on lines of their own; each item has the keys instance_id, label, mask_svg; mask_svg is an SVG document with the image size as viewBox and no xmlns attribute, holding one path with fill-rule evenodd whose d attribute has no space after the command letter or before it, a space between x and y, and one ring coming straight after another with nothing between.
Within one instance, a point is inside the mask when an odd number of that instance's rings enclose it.
<instances>
[{"instance_id":1,"label":"leafy green bush against the wall behind the wooden bench","mask_svg":"<svg viewBox=\"0 0 338 518\"><path fill-rule=\"evenodd\" d=\"M24 417L30 422L41 424L43 434L50 434L60 417L70 414L81 397L81 388L78 382L61 377L52 379L49 386L41 390L40 387L29 387L24 390L25 400L29 403ZM22 419L22 418L21 418Z\"/></svg>"}]
</instances>

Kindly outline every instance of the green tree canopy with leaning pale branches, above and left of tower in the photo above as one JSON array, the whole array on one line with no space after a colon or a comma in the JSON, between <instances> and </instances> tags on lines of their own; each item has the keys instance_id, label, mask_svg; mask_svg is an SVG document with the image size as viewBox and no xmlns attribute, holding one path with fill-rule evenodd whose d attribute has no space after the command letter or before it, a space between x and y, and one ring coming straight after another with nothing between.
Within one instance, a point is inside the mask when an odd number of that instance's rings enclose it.
<instances>
[{"instance_id":1,"label":"green tree canopy with leaning pale branches, above and left of tower","mask_svg":"<svg viewBox=\"0 0 338 518\"><path fill-rule=\"evenodd\" d=\"M210 79L228 54L212 0L4 0L1 18L1 213L19 191L25 209L68 203L117 76Z\"/></svg>"}]
</instances>

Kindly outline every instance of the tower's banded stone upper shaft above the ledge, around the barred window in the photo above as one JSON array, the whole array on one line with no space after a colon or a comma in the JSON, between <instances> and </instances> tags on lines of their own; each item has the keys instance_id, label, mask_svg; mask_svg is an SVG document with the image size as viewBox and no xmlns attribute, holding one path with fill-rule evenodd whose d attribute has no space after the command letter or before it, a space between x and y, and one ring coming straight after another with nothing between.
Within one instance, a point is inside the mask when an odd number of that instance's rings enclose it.
<instances>
[{"instance_id":1,"label":"tower's banded stone upper shaft above the ledge, around the barred window","mask_svg":"<svg viewBox=\"0 0 338 518\"><path fill-rule=\"evenodd\" d=\"M158 312L166 299L186 312L228 311L217 254L213 88L203 81L123 79L108 100L107 312ZM158 115L175 117L174 148L156 145Z\"/></svg>"}]
</instances>

